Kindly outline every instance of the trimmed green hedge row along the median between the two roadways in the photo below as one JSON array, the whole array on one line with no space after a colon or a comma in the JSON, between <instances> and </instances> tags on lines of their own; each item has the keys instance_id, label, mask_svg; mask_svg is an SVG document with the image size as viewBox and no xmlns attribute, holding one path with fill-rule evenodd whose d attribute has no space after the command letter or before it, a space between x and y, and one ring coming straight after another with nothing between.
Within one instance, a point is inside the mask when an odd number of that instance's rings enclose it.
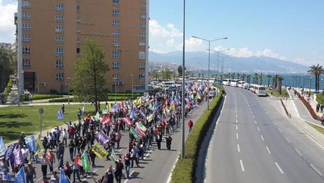
<instances>
[{"instance_id":1,"label":"trimmed green hedge row along the median between the two roadways","mask_svg":"<svg viewBox=\"0 0 324 183\"><path fill-rule=\"evenodd\" d=\"M210 110L205 110L200 118L194 123L192 131L188 135L185 146L185 159L179 159L172 172L172 183L195 182L195 168L201 143L208 132L213 117L222 101L224 87L218 86L221 92L210 103Z\"/></svg>"}]
</instances>

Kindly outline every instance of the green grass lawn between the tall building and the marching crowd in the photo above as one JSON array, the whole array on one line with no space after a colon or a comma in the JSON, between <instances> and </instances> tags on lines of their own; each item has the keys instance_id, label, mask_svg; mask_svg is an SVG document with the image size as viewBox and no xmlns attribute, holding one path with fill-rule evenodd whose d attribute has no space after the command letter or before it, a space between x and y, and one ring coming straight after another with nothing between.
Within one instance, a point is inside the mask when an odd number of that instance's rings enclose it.
<instances>
[{"instance_id":1,"label":"green grass lawn between the tall building and the marching crowd","mask_svg":"<svg viewBox=\"0 0 324 183\"><path fill-rule=\"evenodd\" d=\"M44 109L42 114L42 123L44 129L50 129L53 126L63 125L63 121L57 120L57 111L62 105L35 105L35 106L12 106L0 108L0 136L5 143L15 141L19 138L21 132L27 135L35 134L40 130L40 117L38 110ZM78 109L84 105L66 105L64 121L78 120ZM101 109L104 109L101 105ZM93 105L85 105L86 112L94 111ZM92 113L92 112L91 112Z\"/></svg>"}]
</instances>

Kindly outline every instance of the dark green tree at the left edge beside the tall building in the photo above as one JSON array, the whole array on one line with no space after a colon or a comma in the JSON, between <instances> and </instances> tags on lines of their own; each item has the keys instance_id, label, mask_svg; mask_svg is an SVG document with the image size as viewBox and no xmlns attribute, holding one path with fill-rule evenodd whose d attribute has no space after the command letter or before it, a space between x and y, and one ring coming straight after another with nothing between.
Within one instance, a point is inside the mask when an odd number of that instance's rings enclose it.
<instances>
[{"instance_id":1,"label":"dark green tree at the left edge beside the tall building","mask_svg":"<svg viewBox=\"0 0 324 183\"><path fill-rule=\"evenodd\" d=\"M0 93L7 86L9 76L15 71L15 57L10 49L0 46Z\"/></svg>"}]
</instances>

